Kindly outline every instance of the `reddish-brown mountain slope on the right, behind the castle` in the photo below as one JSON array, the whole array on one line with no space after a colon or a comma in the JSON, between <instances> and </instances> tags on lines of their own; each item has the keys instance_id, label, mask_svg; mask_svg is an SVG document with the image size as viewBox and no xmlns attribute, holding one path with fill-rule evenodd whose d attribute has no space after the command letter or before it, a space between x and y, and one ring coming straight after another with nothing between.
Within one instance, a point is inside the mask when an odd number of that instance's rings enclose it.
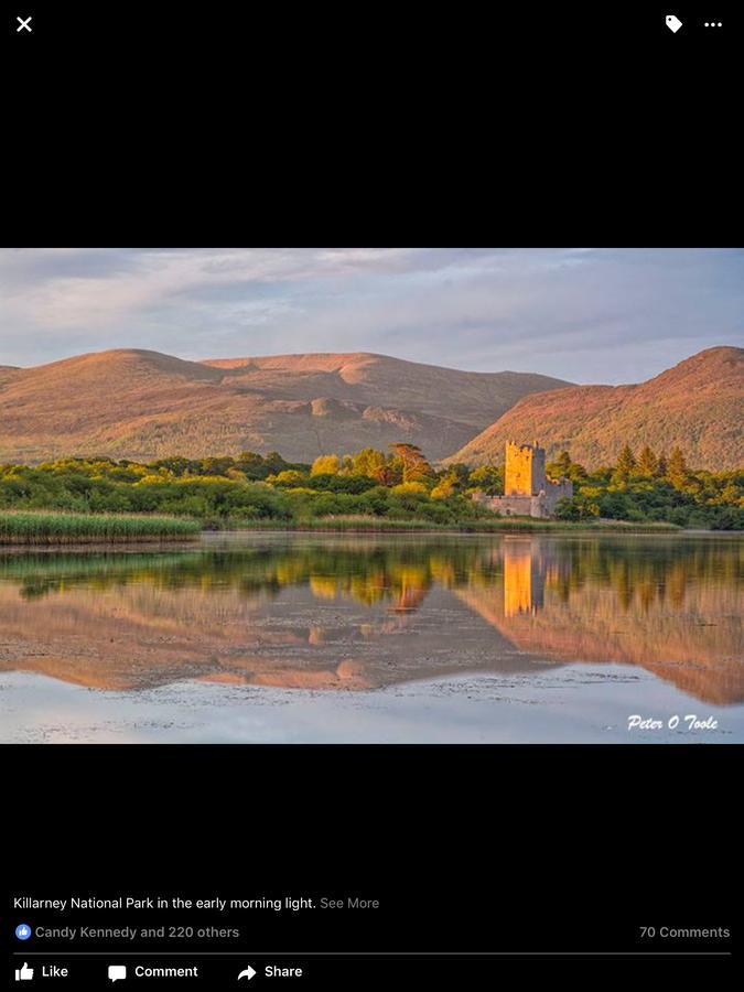
<instances>
[{"instance_id":1,"label":"reddish-brown mountain slope on the right, behind the castle","mask_svg":"<svg viewBox=\"0 0 744 992\"><path fill-rule=\"evenodd\" d=\"M448 461L499 463L507 440L537 439L587 467L614 463L627 441L669 452L693 468L744 465L744 349L708 348L637 386L571 386L527 396Z\"/></svg>"}]
</instances>

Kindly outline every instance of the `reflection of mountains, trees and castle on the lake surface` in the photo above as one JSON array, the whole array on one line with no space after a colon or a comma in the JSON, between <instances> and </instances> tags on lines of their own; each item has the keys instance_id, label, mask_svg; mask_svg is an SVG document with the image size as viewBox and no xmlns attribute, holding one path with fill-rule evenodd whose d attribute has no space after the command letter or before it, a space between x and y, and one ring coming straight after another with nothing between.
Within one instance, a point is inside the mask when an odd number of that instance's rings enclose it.
<instances>
[{"instance_id":1,"label":"reflection of mountains, trees and castle on the lake surface","mask_svg":"<svg viewBox=\"0 0 744 992\"><path fill-rule=\"evenodd\" d=\"M374 689L624 662L736 703L743 550L693 535L226 535L182 552L9 551L0 669L117 690Z\"/></svg>"}]
</instances>

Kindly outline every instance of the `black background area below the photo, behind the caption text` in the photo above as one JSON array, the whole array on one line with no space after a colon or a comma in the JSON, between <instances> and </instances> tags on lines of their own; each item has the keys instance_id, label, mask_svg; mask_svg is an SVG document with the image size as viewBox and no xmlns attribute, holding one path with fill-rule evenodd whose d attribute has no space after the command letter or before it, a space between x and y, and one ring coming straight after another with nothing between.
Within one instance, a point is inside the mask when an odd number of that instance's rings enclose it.
<instances>
[{"instance_id":1,"label":"black background area below the photo, behind the caption text","mask_svg":"<svg viewBox=\"0 0 744 992\"><path fill-rule=\"evenodd\" d=\"M3 912L7 947L22 951L14 967L39 950L67 960L67 941L19 946L21 919L241 931L235 941L101 941L107 955L83 962L85 974L79 959L71 963L90 988L104 963L127 960L117 950L137 949L188 950L175 963L203 964L198 950L245 951L206 959L207 985L231 984L244 958L302 964L313 988L391 975L450 985L525 967L536 979L594 981L619 969L727 981L736 959L567 952L733 949L734 940L647 942L639 928L727 927L735 938L738 755L735 746L9 746L9 895L358 895L380 908ZM326 961L315 957L323 951L560 957Z\"/></svg>"}]
</instances>

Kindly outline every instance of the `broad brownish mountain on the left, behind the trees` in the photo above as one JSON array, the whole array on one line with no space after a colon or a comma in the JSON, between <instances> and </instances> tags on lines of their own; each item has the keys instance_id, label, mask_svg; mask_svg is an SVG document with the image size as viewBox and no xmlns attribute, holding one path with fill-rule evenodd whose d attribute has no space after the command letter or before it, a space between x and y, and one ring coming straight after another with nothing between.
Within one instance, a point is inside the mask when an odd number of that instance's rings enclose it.
<instances>
[{"instance_id":1,"label":"broad brownish mountain on the left, behind the trees","mask_svg":"<svg viewBox=\"0 0 744 992\"><path fill-rule=\"evenodd\" d=\"M96 352L0 367L0 461L250 450L310 462L393 441L440 459L527 393L565 385L367 353L185 362L149 351Z\"/></svg>"}]
</instances>

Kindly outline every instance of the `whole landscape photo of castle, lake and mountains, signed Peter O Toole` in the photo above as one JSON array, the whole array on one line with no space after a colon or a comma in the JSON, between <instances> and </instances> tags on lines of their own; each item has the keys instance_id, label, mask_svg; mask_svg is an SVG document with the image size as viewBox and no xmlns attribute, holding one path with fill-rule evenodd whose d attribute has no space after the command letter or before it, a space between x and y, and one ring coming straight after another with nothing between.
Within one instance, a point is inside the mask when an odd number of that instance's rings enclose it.
<instances>
[{"instance_id":1,"label":"whole landscape photo of castle, lake and mountains, signed Peter O Toole","mask_svg":"<svg viewBox=\"0 0 744 992\"><path fill-rule=\"evenodd\" d=\"M0 249L0 742L744 743L744 249Z\"/></svg>"}]
</instances>

